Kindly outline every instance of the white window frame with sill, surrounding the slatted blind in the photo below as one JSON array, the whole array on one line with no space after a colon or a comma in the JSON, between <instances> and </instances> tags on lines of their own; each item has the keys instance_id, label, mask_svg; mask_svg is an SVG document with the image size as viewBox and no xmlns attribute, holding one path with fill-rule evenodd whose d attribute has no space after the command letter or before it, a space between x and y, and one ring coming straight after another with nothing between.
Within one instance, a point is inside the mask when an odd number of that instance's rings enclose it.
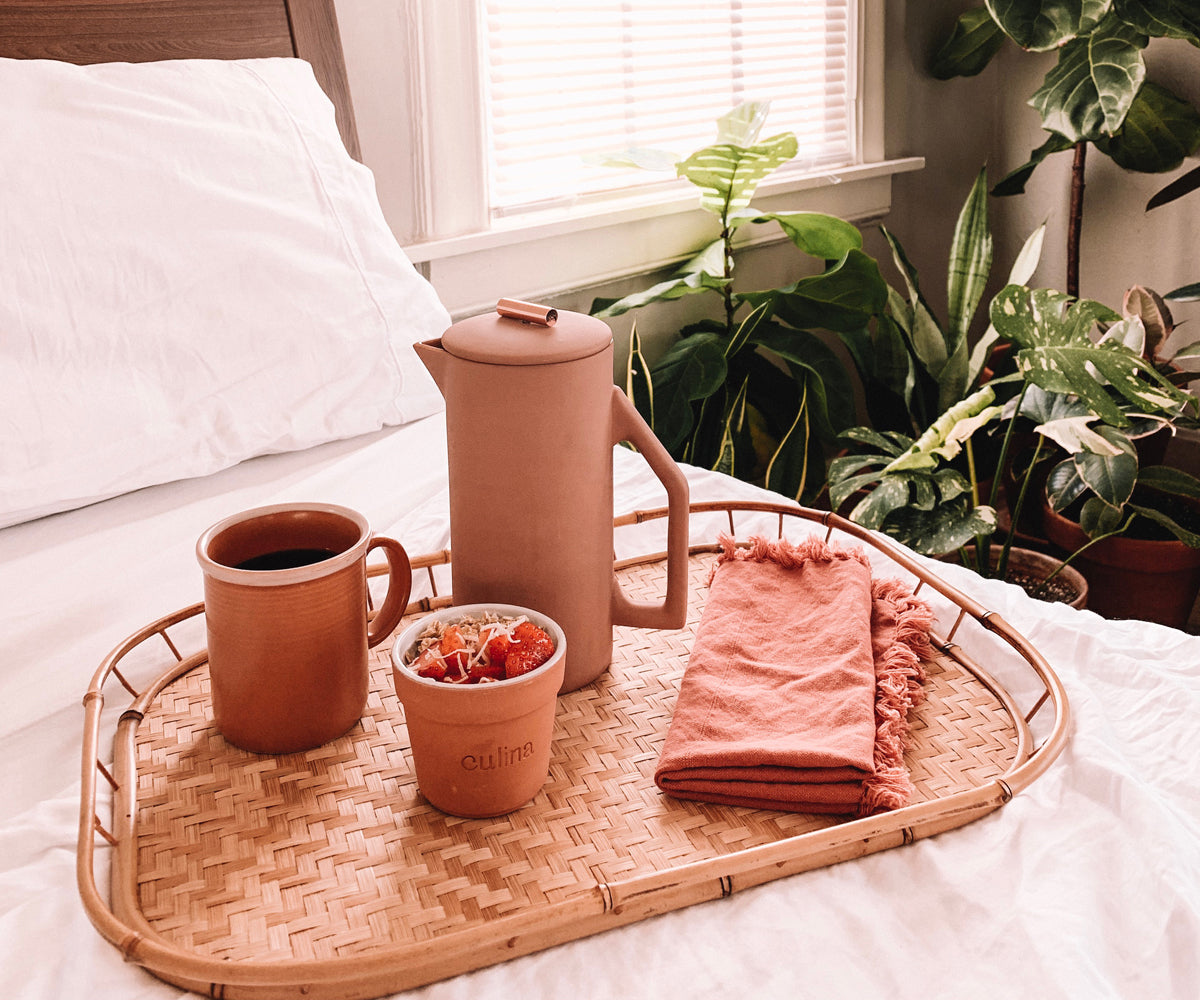
<instances>
[{"instance_id":1,"label":"white window frame with sill, surrounding the slatted blind","mask_svg":"<svg viewBox=\"0 0 1200 1000\"><path fill-rule=\"evenodd\" d=\"M858 0L858 162L834 170L780 170L754 204L774 211L826 211L865 224L892 204L892 178L922 157L884 158L883 24L886 0ZM852 5L853 8L853 5ZM416 150L398 226L406 252L430 279L454 318L494 307L502 297L553 300L686 259L716 233L684 181L576 205L488 217L480 37L474 0L408 0L407 114ZM782 239L752 227L748 242Z\"/></svg>"}]
</instances>

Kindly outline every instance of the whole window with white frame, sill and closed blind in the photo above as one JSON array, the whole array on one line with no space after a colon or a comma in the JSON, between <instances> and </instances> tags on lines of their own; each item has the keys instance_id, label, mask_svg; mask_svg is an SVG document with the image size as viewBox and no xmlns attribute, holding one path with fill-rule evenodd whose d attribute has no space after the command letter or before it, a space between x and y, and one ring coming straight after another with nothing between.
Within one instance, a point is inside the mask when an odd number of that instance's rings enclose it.
<instances>
[{"instance_id":1,"label":"whole window with white frame, sill and closed blind","mask_svg":"<svg viewBox=\"0 0 1200 1000\"><path fill-rule=\"evenodd\" d=\"M756 204L878 217L920 166L882 155L883 4L408 0L416 168L389 217L456 317L670 267L714 235L695 191L595 158L682 157L744 100L800 140Z\"/></svg>"}]
</instances>

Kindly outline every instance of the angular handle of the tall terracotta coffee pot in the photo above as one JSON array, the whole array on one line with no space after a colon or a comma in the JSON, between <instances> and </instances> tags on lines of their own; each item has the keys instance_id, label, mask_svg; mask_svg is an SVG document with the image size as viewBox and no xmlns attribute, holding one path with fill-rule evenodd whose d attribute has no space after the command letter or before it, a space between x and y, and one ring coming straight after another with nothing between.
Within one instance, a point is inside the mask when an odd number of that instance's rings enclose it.
<instances>
[{"instance_id":1,"label":"angular handle of the tall terracotta coffee pot","mask_svg":"<svg viewBox=\"0 0 1200 1000\"><path fill-rule=\"evenodd\" d=\"M612 623L677 629L688 618L688 479L629 397L612 387L612 443L628 441L667 491L667 592L661 604L630 600L612 581Z\"/></svg>"}]
</instances>

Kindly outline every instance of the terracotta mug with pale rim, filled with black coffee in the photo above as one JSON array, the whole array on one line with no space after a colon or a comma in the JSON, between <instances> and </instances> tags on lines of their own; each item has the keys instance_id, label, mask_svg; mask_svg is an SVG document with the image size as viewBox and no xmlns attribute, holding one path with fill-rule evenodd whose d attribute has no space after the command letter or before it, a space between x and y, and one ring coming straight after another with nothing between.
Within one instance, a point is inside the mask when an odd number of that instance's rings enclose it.
<instances>
[{"instance_id":1,"label":"terracotta mug with pale rim, filled with black coffee","mask_svg":"<svg viewBox=\"0 0 1200 1000\"><path fill-rule=\"evenodd\" d=\"M367 622L366 556L389 582ZM366 705L367 647L400 623L413 577L403 546L326 503L234 514L196 546L204 571L212 714L230 743L260 754L308 750L353 726Z\"/></svg>"}]
</instances>

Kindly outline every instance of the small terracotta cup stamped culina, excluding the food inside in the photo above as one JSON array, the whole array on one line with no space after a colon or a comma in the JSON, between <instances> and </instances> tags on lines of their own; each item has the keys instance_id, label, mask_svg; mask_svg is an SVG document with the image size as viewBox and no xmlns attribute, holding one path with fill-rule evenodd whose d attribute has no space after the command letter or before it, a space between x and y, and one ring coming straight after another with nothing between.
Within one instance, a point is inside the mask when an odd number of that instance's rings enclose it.
<instances>
[{"instance_id":1,"label":"small terracotta cup stamped culina, excluding the food inside","mask_svg":"<svg viewBox=\"0 0 1200 1000\"><path fill-rule=\"evenodd\" d=\"M554 642L541 666L510 681L446 684L406 666L431 622L492 611L524 615ZM434 611L404 629L391 647L396 695L421 794L454 816L499 816L533 798L550 773L554 709L566 665L566 636L536 611L510 604L466 604Z\"/></svg>"}]
</instances>

